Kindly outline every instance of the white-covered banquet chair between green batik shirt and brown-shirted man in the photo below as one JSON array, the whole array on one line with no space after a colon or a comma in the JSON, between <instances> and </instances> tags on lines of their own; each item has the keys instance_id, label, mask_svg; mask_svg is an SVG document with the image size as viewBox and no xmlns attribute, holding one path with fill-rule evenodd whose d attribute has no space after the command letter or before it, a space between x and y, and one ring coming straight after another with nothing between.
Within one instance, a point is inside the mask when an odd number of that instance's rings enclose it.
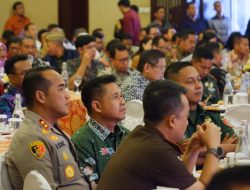
<instances>
[{"instance_id":1,"label":"white-covered banquet chair between green batik shirt and brown-shirted man","mask_svg":"<svg viewBox=\"0 0 250 190\"><path fill-rule=\"evenodd\" d=\"M126 118L123 126L132 131L137 125L143 125L143 105L140 100L130 100L126 103Z\"/></svg>"}]
</instances>

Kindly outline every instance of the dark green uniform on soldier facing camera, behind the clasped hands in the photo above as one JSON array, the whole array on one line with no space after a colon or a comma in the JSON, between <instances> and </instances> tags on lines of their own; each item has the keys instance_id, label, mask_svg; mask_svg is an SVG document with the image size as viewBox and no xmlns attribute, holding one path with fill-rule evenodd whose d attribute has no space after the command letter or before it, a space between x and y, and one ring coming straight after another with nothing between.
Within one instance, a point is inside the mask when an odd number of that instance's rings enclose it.
<instances>
[{"instance_id":1,"label":"dark green uniform on soldier facing camera, behind the clasped hands","mask_svg":"<svg viewBox=\"0 0 250 190\"><path fill-rule=\"evenodd\" d=\"M221 128L221 140L224 139L227 133L229 136L234 134L232 127L225 124L225 121L222 120L219 113L206 111L198 105L195 111L189 113L185 138L190 138L192 134L196 132L196 126L203 124L205 121L213 122Z\"/></svg>"}]
</instances>

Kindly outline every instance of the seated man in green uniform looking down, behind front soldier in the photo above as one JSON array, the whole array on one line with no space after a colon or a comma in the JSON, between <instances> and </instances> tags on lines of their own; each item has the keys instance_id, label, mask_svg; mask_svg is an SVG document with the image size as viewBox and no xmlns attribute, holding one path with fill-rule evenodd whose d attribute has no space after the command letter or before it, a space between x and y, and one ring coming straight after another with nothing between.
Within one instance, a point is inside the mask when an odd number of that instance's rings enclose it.
<instances>
[{"instance_id":1,"label":"seated man in green uniform looking down, behind front soldier","mask_svg":"<svg viewBox=\"0 0 250 190\"><path fill-rule=\"evenodd\" d=\"M216 78L209 74L213 66L213 58L213 54L205 47L196 48L192 58L192 64L200 74L203 84L202 101L208 105L217 104L220 100Z\"/></svg>"}]
</instances>

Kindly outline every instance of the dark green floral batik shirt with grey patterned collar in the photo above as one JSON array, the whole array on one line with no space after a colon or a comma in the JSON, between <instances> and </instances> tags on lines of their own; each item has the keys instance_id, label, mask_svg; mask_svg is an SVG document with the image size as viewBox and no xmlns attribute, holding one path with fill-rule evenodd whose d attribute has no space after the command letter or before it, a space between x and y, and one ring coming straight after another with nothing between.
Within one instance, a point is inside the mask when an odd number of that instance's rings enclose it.
<instances>
[{"instance_id":1,"label":"dark green floral batik shirt with grey patterned collar","mask_svg":"<svg viewBox=\"0 0 250 190\"><path fill-rule=\"evenodd\" d=\"M72 136L79 155L80 170L88 176L89 181L99 181L108 161L127 134L128 130L120 125L111 133L94 119L90 119Z\"/></svg>"}]
</instances>

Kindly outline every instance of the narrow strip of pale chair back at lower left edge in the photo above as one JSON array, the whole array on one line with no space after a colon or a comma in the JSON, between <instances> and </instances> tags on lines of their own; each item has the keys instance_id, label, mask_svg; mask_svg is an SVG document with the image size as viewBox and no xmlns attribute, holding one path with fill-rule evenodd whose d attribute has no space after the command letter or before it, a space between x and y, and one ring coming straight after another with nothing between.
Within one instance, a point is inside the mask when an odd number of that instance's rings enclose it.
<instances>
[{"instance_id":1,"label":"narrow strip of pale chair back at lower left edge","mask_svg":"<svg viewBox=\"0 0 250 190\"><path fill-rule=\"evenodd\" d=\"M5 156L0 155L0 190L12 189Z\"/></svg>"}]
</instances>

